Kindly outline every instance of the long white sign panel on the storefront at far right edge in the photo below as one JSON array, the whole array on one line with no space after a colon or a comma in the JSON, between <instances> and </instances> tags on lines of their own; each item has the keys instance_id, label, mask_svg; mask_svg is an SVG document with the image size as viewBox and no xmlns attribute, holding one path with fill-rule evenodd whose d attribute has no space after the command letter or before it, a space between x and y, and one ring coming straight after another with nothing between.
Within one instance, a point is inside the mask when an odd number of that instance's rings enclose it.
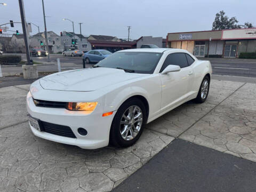
<instances>
[{"instance_id":1,"label":"long white sign panel on the storefront at far right edge","mask_svg":"<svg viewBox=\"0 0 256 192\"><path fill-rule=\"evenodd\" d=\"M256 39L256 28L223 30L221 39Z\"/></svg>"}]
</instances>

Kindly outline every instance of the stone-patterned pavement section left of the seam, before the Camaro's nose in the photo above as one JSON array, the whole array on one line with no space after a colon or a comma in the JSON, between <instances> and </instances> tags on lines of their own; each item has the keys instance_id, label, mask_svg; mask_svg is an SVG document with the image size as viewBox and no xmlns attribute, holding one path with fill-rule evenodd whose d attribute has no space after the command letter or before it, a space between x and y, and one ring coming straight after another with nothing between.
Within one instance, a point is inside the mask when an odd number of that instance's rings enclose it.
<instances>
[{"instance_id":1,"label":"stone-patterned pavement section left of the seam, before the Camaro's nose","mask_svg":"<svg viewBox=\"0 0 256 192\"><path fill-rule=\"evenodd\" d=\"M28 90L0 89L0 191L110 191L174 139L145 130L132 147L85 150L35 137Z\"/></svg>"}]
</instances>

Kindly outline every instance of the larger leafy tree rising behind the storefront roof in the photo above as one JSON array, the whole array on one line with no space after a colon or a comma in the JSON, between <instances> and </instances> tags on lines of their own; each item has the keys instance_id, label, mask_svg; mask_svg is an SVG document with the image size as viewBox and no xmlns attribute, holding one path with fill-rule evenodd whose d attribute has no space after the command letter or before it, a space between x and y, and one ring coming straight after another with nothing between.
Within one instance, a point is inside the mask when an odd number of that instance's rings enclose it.
<instances>
[{"instance_id":1,"label":"larger leafy tree rising behind the storefront roof","mask_svg":"<svg viewBox=\"0 0 256 192\"><path fill-rule=\"evenodd\" d=\"M214 22L212 23L212 30L239 28L241 28L241 25L238 25L236 17L231 17L229 19L223 10L216 14Z\"/></svg>"}]
</instances>

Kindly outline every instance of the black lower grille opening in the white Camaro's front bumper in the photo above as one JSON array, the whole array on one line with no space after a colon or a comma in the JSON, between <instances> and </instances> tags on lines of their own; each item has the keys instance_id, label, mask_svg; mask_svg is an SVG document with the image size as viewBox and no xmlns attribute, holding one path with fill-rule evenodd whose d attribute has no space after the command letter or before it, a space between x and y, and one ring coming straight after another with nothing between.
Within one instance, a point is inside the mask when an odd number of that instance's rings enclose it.
<instances>
[{"instance_id":1,"label":"black lower grille opening in the white Camaro's front bumper","mask_svg":"<svg viewBox=\"0 0 256 192\"><path fill-rule=\"evenodd\" d=\"M69 126L57 125L41 121L43 131L68 138L76 138L76 135Z\"/></svg>"}]
</instances>

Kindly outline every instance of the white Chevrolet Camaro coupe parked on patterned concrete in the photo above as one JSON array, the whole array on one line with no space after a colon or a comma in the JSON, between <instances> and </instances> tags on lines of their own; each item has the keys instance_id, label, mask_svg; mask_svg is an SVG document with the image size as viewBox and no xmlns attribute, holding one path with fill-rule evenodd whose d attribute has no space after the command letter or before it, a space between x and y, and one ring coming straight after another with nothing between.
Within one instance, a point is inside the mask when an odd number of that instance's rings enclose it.
<instances>
[{"instance_id":1,"label":"white Chevrolet Camaro coupe parked on patterned concrete","mask_svg":"<svg viewBox=\"0 0 256 192\"><path fill-rule=\"evenodd\" d=\"M185 50L118 51L31 84L29 125L37 137L84 149L131 146L147 123L191 99L204 102L211 74L209 61Z\"/></svg>"}]
</instances>

